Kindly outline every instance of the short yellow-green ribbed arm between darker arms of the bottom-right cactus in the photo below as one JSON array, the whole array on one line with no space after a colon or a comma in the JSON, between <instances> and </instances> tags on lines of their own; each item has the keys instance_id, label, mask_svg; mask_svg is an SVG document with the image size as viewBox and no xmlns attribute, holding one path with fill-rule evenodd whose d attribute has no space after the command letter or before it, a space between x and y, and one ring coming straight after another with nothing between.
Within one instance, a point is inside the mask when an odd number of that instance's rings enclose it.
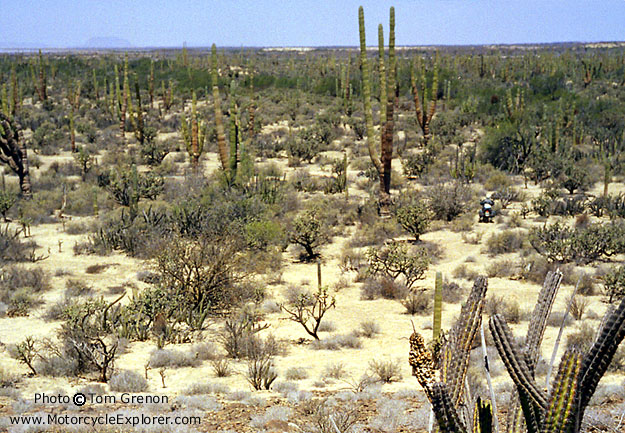
<instances>
[{"instance_id":1,"label":"short yellow-green ribbed arm between darker arms of the bottom-right cactus","mask_svg":"<svg viewBox=\"0 0 625 433\"><path fill-rule=\"evenodd\" d=\"M567 351L553 383L541 433L565 433L572 425L582 355Z\"/></svg>"}]
</instances>

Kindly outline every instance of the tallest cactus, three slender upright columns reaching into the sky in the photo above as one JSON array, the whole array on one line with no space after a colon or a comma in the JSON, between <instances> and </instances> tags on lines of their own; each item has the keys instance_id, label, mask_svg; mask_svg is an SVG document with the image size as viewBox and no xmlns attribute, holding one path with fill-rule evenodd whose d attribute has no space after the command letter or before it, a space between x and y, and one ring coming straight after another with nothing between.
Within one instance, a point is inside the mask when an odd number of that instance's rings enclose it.
<instances>
[{"instance_id":1,"label":"tallest cactus, three slender upright columns reaching into the sky","mask_svg":"<svg viewBox=\"0 0 625 433\"><path fill-rule=\"evenodd\" d=\"M391 203L391 161L393 158L394 109L397 101L395 76L397 73L395 59L395 8L390 9L389 24L389 65L385 65L384 40L382 26L378 27L379 38L379 74L380 74L380 157L375 149L375 131L373 128L373 109L371 107L371 83L369 78L369 62L365 42L365 14L362 6L358 9L358 27L360 32L360 64L362 68L362 93L365 108L367 129L367 148L369 157L375 166L380 179L379 202L383 214L388 214ZM385 83L385 84L383 84Z\"/></svg>"}]
</instances>

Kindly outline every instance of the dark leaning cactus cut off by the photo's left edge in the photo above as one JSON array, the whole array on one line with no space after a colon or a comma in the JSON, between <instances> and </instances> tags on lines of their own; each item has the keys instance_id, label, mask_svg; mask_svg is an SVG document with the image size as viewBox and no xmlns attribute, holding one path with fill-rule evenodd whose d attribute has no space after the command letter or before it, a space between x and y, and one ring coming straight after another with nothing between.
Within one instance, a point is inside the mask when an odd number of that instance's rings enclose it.
<instances>
[{"instance_id":1,"label":"dark leaning cactus cut off by the photo's left edge","mask_svg":"<svg viewBox=\"0 0 625 433\"><path fill-rule=\"evenodd\" d=\"M3 113L0 113L0 162L7 164L19 178L22 196L32 197L28 154L22 130Z\"/></svg>"}]
</instances>

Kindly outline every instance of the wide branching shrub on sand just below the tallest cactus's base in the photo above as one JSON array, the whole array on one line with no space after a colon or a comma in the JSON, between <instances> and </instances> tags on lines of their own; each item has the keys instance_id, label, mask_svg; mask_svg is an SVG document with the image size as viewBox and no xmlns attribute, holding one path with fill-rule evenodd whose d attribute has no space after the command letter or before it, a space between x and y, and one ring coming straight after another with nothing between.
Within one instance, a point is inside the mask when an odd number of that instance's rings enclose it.
<instances>
[{"instance_id":1,"label":"wide branching shrub on sand just below the tallest cactus's base","mask_svg":"<svg viewBox=\"0 0 625 433\"><path fill-rule=\"evenodd\" d=\"M423 248L409 251L407 245L401 242L391 242L381 249L369 248L367 259L370 275L382 276L391 280L402 277L408 289L417 280L423 278L430 264L429 256Z\"/></svg>"}]
</instances>

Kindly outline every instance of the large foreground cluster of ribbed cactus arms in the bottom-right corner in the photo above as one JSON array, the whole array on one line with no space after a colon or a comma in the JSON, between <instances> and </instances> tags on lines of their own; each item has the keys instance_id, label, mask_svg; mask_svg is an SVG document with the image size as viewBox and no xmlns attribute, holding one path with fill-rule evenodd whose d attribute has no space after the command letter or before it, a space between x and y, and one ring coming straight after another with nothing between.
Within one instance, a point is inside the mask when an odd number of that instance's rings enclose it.
<instances>
[{"instance_id":1,"label":"large foreground cluster of ribbed cactus arms in the bottom-right corner","mask_svg":"<svg viewBox=\"0 0 625 433\"><path fill-rule=\"evenodd\" d=\"M516 385L516 397L508 408L508 432L528 433L580 431L584 411L599 380L625 337L625 300L602 321L595 342L587 353L569 349L562 356L550 391L545 392L535 379L547 318L562 280L560 272L548 274L532 314L523 348L513 337L505 319L491 317L489 328L495 346ZM488 404L478 400L475 410L467 413L470 399L463 402L463 381L468 353L475 331L481 323L481 306L486 292L485 280L479 278L460 318L443 341L438 358L425 347L416 332L410 337L409 362L432 403L442 432L490 432L493 419ZM438 363L437 363L438 359ZM438 364L438 371L435 369ZM473 406L473 405L471 405ZM469 426L472 426L469 428Z\"/></svg>"}]
</instances>

